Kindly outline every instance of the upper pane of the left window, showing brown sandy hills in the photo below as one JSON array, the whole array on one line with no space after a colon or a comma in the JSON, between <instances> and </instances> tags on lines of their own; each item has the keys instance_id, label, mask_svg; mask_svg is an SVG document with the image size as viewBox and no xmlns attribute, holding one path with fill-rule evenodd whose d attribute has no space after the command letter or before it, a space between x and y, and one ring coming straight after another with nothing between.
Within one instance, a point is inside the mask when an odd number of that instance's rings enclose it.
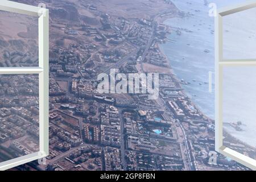
<instances>
[{"instance_id":1,"label":"upper pane of the left window, showing brown sandy hills","mask_svg":"<svg viewBox=\"0 0 256 182\"><path fill-rule=\"evenodd\" d=\"M38 17L0 11L0 67L38 67Z\"/></svg>"}]
</instances>

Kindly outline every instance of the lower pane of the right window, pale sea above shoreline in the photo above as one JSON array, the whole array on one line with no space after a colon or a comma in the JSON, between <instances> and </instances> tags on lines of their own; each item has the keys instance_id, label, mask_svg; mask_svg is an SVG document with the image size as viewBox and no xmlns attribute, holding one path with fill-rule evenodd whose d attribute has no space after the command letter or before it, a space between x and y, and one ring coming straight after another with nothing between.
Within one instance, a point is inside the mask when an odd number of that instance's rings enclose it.
<instances>
[{"instance_id":1,"label":"lower pane of the right window, pale sea above shoreline","mask_svg":"<svg viewBox=\"0 0 256 182\"><path fill-rule=\"evenodd\" d=\"M223 68L224 146L256 159L256 66Z\"/></svg>"}]
</instances>

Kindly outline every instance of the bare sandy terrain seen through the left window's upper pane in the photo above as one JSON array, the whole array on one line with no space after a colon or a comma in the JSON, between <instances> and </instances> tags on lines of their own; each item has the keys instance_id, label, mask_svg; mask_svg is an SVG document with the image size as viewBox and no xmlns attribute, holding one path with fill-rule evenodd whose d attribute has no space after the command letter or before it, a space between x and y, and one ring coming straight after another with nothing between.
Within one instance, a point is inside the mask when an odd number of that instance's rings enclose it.
<instances>
[{"instance_id":1,"label":"bare sandy terrain seen through the left window's upper pane","mask_svg":"<svg viewBox=\"0 0 256 182\"><path fill-rule=\"evenodd\" d=\"M38 54L38 18L0 11L0 27L0 59L3 51Z\"/></svg>"}]
</instances>

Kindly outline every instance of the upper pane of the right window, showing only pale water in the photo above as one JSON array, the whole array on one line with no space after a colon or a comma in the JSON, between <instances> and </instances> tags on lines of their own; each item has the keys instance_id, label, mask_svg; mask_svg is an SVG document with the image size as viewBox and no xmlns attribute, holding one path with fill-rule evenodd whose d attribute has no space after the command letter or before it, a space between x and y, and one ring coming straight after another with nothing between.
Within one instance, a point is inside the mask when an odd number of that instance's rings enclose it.
<instances>
[{"instance_id":1,"label":"upper pane of the right window, showing only pale water","mask_svg":"<svg viewBox=\"0 0 256 182\"><path fill-rule=\"evenodd\" d=\"M223 17L224 59L256 59L256 8Z\"/></svg>"}]
</instances>

